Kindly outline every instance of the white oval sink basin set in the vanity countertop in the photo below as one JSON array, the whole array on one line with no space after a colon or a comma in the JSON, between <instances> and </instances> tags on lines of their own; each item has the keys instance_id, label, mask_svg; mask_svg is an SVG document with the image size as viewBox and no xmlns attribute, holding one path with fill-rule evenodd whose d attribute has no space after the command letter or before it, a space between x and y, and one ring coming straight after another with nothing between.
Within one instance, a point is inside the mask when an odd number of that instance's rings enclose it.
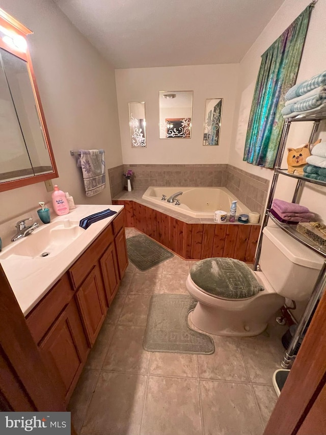
<instances>
[{"instance_id":1,"label":"white oval sink basin set in the vanity countertop","mask_svg":"<svg viewBox=\"0 0 326 435\"><path fill-rule=\"evenodd\" d=\"M29 236L25 236L11 245L0 254L0 260L24 258L48 258L62 252L75 239L85 233L80 228L79 222L69 219L52 222L34 230Z\"/></svg>"}]
</instances>

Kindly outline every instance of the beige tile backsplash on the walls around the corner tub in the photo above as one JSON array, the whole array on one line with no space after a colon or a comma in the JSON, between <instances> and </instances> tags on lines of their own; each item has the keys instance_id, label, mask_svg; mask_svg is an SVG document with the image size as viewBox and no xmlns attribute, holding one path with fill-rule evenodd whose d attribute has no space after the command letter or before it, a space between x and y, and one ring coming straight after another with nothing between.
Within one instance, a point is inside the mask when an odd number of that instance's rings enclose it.
<instances>
[{"instance_id":1,"label":"beige tile backsplash on the walls around the corner tub","mask_svg":"<svg viewBox=\"0 0 326 435\"><path fill-rule=\"evenodd\" d=\"M120 165L108 169L111 195L114 199L124 190L124 177L132 169L132 188L149 186L226 187L251 211L262 216L269 181L228 164L212 165Z\"/></svg>"}]
</instances>

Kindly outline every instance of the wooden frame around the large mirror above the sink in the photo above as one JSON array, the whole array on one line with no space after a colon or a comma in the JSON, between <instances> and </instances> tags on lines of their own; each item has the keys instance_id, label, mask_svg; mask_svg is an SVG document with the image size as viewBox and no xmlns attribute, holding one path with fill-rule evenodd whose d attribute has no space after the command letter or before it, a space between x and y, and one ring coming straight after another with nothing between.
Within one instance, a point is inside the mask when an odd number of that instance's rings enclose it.
<instances>
[{"instance_id":1,"label":"wooden frame around the large mirror above the sink","mask_svg":"<svg viewBox=\"0 0 326 435\"><path fill-rule=\"evenodd\" d=\"M14 17L7 14L7 12L5 12L3 9L0 9L0 29L2 30L3 33L6 33L8 35L14 35L14 36L18 35L24 38L24 40L26 40L27 35L33 33L31 30L29 30L23 24L17 21ZM26 66L30 75L31 87L34 93L35 106L38 112L43 137L47 145L51 166L53 169L52 172L46 174L39 174L39 175L33 174L31 176L27 176L18 180L2 182L0 183L0 192L4 192L6 190L15 189L17 187L28 186L35 183L40 183L42 181L51 180L51 178L57 178L59 174L58 174L55 158L53 156L51 142L47 130L47 125L45 122L45 116L41 104L39 90L36 84L35 74L34 74L32 60L31 60L28 46L26 44L26 48L24 49L24 51L22 51L19 50L18 48L16 49L13 45L11 44L9 45L8 43L6 43L6 41L4 41L3 38L0 38L0 47L26 62Z\"/></svg>"}]
</instances>

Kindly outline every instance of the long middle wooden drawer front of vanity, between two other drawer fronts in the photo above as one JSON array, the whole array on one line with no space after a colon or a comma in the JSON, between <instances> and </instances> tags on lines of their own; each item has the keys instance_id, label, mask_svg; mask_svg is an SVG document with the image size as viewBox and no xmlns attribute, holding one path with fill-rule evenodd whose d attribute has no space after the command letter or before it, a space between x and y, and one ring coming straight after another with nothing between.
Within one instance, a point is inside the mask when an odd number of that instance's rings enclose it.
<instances>
[{"instance_id":1,"label":"long middle wooden drawer front of vanity, between two other drawer fronts","mask_svg":"<svg viewBox=\"0 0 326 435\"><path fill-rule=\"evenodd\" d=\"M107 246L112 243L113 239L113 228L112 225L109 225L69 269L71 282L75 289L82 284L86 276L97 263L101 254L105 251Z\"/></svg>"}]
</instances>

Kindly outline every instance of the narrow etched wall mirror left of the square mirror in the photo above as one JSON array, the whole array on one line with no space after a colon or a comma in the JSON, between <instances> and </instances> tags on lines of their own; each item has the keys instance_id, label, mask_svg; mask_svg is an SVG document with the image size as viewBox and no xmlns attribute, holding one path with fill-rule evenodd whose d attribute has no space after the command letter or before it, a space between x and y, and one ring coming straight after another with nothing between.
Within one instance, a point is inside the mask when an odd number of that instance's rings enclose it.
<instances>
[{"instance_id":1,"label":"narrow etched wall mirror left of the square mirror","mask_svg":"<svg viewBox=\"0 0 326 435\"><path fill-rule=\"evenodd\" d=\"M129 103L131 148L146 147L145 103Z\"/></svg>"}]
</instances>

